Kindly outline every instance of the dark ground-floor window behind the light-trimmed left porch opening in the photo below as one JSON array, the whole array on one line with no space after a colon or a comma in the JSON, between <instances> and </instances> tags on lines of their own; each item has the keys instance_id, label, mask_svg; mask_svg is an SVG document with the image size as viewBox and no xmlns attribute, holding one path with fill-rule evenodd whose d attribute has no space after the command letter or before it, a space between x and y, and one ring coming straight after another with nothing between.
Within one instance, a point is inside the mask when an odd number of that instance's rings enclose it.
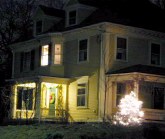
<instances>
[{"instance_id":1,"label":"dark ground-floor window behind the light-trimmed left porch opening","mask_svg":"<svg viewBox=\"0 0 165 139\"><path fill-rule=\"evenodd\" d=\"M33 92L34 92L34 88L17 87L17 109L19 110L33 109Z\"/></svg>"}]
</instances>

